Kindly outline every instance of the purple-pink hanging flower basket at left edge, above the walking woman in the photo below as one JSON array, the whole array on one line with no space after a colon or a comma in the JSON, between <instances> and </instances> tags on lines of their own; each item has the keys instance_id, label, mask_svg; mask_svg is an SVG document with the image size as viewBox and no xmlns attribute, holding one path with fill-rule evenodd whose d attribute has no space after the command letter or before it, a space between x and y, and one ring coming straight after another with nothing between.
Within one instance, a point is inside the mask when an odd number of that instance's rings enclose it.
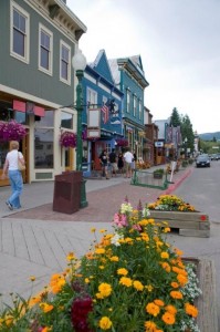
<instances>
[{"instance_id":1,"label":"purple-pink hanging flower basket at left edge, above the walking woman","mask_svg":"<svg viewBox=\"0 0 220 332\"><path fill-rule=\"evenodd\" d=\"M0 121L0 141L21 141L27 135L25 127L11 120L10 122Z\"/></svg>"}]
</instances>

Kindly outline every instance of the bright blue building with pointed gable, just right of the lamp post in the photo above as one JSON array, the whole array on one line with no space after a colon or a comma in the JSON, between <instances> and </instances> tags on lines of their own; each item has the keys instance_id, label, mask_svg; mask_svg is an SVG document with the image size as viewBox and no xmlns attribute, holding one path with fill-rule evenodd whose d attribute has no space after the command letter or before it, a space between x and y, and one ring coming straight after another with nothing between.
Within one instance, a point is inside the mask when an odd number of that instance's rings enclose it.
<instances>
[{"instance_id":1,"label":"bright blue building with pointed gable, just right of the lamp post","mask_svg":"<svg viewBox=\"0 0 220 332\"><path fill-rule=\"evenodd\" d=\"M86 133L83 143L84 175L91 175L92 168L101 168L98 156L102 151L105 148L109 153L112 148L117 149L116 142L123 137L124 93L115 84L104 50L86 66L83 87L86 101L83 112L83 127ZM90 123L93 113L97 114L96 126Z\"/></svg>"}]
</instances>

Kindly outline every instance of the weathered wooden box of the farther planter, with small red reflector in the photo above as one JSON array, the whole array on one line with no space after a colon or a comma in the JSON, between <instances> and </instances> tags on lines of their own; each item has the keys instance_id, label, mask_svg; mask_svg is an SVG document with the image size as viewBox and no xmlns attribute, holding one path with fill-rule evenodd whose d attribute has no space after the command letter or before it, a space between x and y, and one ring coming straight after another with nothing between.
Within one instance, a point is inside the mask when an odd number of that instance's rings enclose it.
<instances>
[{"instance_id":1,"label":"weathered wooden box of the farther planter, with small red reflector","mask_svg":"<svg viewBox=\"0 0 220 332\"><path fill-rule=\"evenodd\" d=\"M170 228L179 229L179 235L188 237L210 237L210 221L206 214L150 210L150 218L167 221Z\"/></svg>"}]
</instances>

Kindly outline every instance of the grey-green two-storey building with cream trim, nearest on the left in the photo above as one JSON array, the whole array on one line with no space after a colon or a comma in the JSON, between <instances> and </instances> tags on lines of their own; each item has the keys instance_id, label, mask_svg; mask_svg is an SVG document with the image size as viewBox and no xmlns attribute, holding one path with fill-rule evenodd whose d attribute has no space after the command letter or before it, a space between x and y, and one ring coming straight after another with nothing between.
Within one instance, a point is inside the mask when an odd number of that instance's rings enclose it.
<instances>
[{"instance_id":1,"label":"grey-green two-storey building with cream trim, nearest on the left","mask_svg":"<svg viewBox=\"0 0 220 332\"><path fill-rule=\"evenodd\" d=\"M65 1L0 1L0 121L27 127L24 181L74 168L74 151L62 147L60 136L76 132L72 56L85 32ZM8 148L0 142L0 173Z\"/></svg>"}]
</instances>

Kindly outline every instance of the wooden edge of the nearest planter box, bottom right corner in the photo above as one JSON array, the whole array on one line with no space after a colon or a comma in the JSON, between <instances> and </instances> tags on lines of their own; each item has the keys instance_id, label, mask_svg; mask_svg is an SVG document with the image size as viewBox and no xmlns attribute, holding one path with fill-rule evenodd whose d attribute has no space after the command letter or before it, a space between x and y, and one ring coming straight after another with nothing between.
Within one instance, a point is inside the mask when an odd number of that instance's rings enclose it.
<instances>
[{"instance_id":1,"label":"wooden edge of the nearest planter box, bottom right corner","mask_svg":"<svg viewBox=\"0 0 220 332\"><path fill-rule=\"evenodd\" d=\"M219 332L214 263L209 259L196 258L184 258L184 261L195 263L199 288L202 291L202 294L195 301L199 311L198 326L201 332Z\"/></svg>"}]
</instances>

